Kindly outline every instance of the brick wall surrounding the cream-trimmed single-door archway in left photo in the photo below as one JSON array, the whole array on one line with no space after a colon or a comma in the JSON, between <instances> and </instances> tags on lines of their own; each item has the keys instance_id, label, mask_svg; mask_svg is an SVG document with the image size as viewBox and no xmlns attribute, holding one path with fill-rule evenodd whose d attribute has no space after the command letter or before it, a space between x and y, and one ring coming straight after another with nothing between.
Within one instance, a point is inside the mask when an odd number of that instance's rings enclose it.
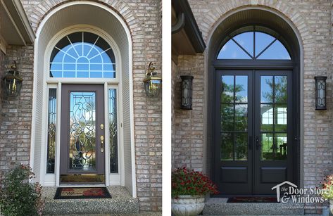
<instances>
[{"instance_id":1,"label":"brick wall surrounding the cream-trimmed single-door archway in left photo","mask_svg":"<svg viewBox=\"0 0 333 216\"><path fill-rule=\"evenodd\" d=\"M34 31L46 13L63 4L63 0L21 0ZM162 205L162 100L146 96L142 80L149 62L155 63L161 75L161 1L109 0L101 1L117 11L132 34L134 139L137 171L137 196L141 211L161 211ZM18 58L20 56L20 58ZM18 58L18 68L24 72L23 91L19 99L1 101L4 121L1 121L0 174L15 163L29 162L32 47L8 47L6 63Z\"/></svg>"}]
</instances>

